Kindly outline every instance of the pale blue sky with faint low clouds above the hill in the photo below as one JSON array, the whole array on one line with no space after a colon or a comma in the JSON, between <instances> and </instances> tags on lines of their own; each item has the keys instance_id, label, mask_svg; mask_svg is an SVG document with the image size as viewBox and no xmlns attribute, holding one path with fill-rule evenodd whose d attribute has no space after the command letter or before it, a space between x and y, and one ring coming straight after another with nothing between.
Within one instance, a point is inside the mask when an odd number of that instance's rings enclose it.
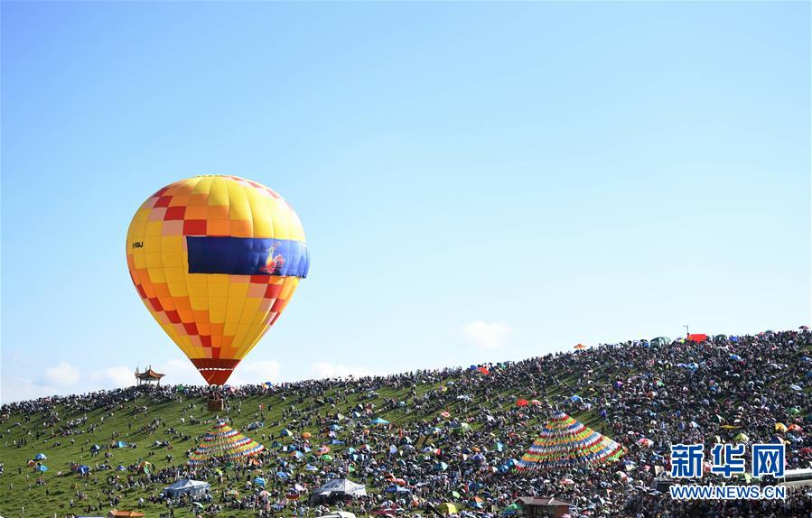
<instances>
[{"instance_id":1,"label":"pale blue sky with faint low clouds above the hill","mask_svg":"<svg viewBox=\"0 0 812 518\"><path fill-rule=\"evenodd\" d=\"M311 274L236 382L810 310L808 3L2 4L2 398L201 383L125 236L237 174Z\"/></svg>"}]
</instances>

